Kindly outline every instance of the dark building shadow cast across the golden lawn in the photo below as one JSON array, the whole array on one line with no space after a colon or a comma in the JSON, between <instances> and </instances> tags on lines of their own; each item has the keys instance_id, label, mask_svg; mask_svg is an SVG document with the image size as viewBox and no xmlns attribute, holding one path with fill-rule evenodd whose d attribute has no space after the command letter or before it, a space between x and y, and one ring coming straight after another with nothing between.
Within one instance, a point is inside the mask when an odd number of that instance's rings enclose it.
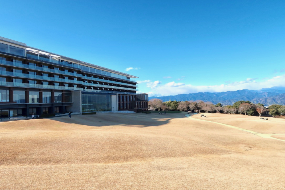
<instances>
[{"instance_id":1,"label":"dark building shadow cast across the golden lawn","mask_svg":"<svg viewBox=\"0 0 285 190\"><path fill-rule=\"evenodd\" d=\"M173 114L143 114L143 113L97 113L95 115L72 115L49 118L50 120L86 125L86 126L116 126L123 125L129 127L148 127L148 126L160 126L167 124L171 119L184 118L184 113Z\"/></svg>"}]
</instances>

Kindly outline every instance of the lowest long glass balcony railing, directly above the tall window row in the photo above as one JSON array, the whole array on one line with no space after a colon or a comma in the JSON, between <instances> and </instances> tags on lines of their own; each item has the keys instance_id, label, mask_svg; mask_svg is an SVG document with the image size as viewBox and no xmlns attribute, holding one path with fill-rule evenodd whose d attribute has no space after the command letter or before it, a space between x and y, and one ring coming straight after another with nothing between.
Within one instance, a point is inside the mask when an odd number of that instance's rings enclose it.
<instances>
[{"instance_id":1,"label":"lowest long glass balcony railing, directly above the tall window row","mask_svg":"<svg viewBox=\"0 0 285 190\"><path fill-rule=\"evenodd\" d=\"M25 88L45 88L45 89L59 89L59 90L82 90L82 88L76 88L76 87L52 86L52 85L16 83L16 82L2 82L2 81L0 81L0 86L25 87Z\"/></svg>"}]
</instances>

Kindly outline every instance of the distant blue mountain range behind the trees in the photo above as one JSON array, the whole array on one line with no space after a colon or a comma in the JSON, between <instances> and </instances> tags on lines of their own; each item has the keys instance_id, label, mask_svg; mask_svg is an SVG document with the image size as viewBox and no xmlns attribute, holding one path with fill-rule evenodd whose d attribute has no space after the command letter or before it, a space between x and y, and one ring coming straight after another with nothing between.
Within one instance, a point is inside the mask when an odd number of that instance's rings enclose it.
<instances>
[{"instance_id":1,"label":"distant blue mountain range behind the trees","mask_svg":"<svg viewBox=\"0 0 285 190\"><path fill-rule=\"evenodd\" d=\"M213 104L221 103L223 105L233 105L236 101L245 100L255 104L262 103L265 106L272 104L285 105L285 87L274 86L272 88L262 88L260 90L237 90L227 92L199 92L192 94L178 94L174 96L149 97L150 99L158 98L162 101L209 101Z\"/></svg>"}]
</instances>

